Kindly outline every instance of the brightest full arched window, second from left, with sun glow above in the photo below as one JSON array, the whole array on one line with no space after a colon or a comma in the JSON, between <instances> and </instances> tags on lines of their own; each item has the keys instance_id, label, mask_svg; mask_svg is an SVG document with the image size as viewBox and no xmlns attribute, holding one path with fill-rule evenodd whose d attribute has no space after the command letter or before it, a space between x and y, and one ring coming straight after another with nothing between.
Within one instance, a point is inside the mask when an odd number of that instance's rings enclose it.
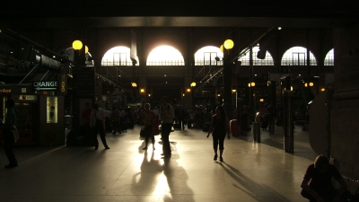
<instances>
[{"instance_id":1,"label":"brightest full arched window, second from left, with sun glow above","mask_svg":"<svg viewBox=\"0 0 359 202\"><path fill-rule=\"evenodd\" d=\"M154 48L147 57L146 66L184 66L180 51L170 46Z\"/></svg>"}]
</instances>

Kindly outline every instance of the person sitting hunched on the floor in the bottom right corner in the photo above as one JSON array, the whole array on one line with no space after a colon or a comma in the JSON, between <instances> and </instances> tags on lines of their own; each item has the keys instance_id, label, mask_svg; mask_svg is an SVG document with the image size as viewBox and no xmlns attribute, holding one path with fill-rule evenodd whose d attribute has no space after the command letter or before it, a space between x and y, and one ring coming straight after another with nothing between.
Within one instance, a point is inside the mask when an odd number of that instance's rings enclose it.
<instances>
[{"instance_id":1,"label":"person sitting hunched on the floor in the bottom right corner","mask_svg":"<svg viewBox=\"0 0 359 202\"><path fill-rule=\"evenodd\" d=\"M332 178L340 184L339 189L334 188ZM330 164L324 155L319 155L314 163L308 166L302 179L301 188L302 197L308 198L310 201L346 201L351 198L350 192L346 190L346 182L337 168Z\"/></svg>"}]
</instances>

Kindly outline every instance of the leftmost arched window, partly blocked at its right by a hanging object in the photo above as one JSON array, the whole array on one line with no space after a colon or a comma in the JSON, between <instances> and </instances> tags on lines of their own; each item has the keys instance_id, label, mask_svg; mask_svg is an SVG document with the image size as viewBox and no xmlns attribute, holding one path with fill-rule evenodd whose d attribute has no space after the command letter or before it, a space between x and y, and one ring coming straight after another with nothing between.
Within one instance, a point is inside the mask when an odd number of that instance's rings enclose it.
<instances>
[{"instance_id":1,"label":"leftmost arched window, partly blocked at its right by a hanging object","mask_svg":"<svg viewBox=\"0 0 359 202\"><path fill-rule=\"evenodd\" d=\"M138 66L138 57L136 61ZM101 66L132 66L130 49L122 46L110 48L102 57Z\"/></svg>"}]
</instances>

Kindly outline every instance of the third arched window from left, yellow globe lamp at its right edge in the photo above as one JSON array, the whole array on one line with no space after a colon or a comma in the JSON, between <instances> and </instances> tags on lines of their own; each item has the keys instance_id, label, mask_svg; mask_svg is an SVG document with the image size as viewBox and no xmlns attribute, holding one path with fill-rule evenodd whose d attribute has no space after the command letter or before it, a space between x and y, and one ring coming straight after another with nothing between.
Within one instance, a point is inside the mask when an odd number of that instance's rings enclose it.
<instances>
[{"instance_id":1,"label":"third arched window from left, yellow globe lamp at its right edge","mask_svg":"<svg viewBox=\"0 0 359 202\"><path fill-rule=\"evenodd\" d=\"M215 58L217 57L217 59ZM223 52L220 48L207 46L195 53L195 66L222 66Z\"/></svg>"}]
</instances>

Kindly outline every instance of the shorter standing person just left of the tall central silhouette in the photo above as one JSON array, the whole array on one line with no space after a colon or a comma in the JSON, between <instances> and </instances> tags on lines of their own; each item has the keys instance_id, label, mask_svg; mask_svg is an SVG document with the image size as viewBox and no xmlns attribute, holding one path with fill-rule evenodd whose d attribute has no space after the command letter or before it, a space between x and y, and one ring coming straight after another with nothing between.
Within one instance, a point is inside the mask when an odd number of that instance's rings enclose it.
<instances>
[{"instance_id":1,"label":"shorter standing person just left of the tall central silhouette","mask_svg":"<svg viewBox=\"0 0 359 202\"><path fill-rule=\"evenodd\" d=\"M153 127L153 121L156 119L155 114L151 110L151 105L149 103L144 104L144 113L142 114L142 118L144 119L144 137L145 137L145 146L143 150L147 150L147 145L149 142L149 139L151 137L153 150L154 148L154 136L152 135L152 127Z\"/></svg>"}]
</instances>

